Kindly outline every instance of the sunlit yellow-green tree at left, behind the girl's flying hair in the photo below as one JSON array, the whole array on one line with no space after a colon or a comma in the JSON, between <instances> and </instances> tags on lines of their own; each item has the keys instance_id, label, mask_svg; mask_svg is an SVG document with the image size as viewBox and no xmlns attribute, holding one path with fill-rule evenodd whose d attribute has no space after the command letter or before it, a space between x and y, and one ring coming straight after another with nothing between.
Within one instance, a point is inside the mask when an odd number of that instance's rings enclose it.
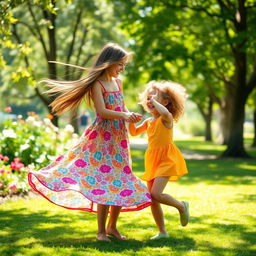
<instances>
[{"instance_id":1,"label":"sunlit yellow-green tree at left, behind the girl's flying hair","mask_svg":"<svg viewBox=\"0 0 256 256\"><path fill-rule=\"evenodd\" d=\"M37 97L52 113L49 104L54 97L43 94L36 82L42 77L79 79L83 74L81 70L57 66L50 61L86 66L104 43L119 40L121 36L112 30L115 22L112 5L99 0L30 0L20 1L14 7L9 13L15 20L9 22L8 41L2 44L8 48L5 59L9 60L4 83L13 85L16 93L22 90L23 97ZM18 86L22 87L19 91ZM53 122L58 124L55 115ZM76 127L76 122L73 124Z\"/></svg>"}]
</instances>

